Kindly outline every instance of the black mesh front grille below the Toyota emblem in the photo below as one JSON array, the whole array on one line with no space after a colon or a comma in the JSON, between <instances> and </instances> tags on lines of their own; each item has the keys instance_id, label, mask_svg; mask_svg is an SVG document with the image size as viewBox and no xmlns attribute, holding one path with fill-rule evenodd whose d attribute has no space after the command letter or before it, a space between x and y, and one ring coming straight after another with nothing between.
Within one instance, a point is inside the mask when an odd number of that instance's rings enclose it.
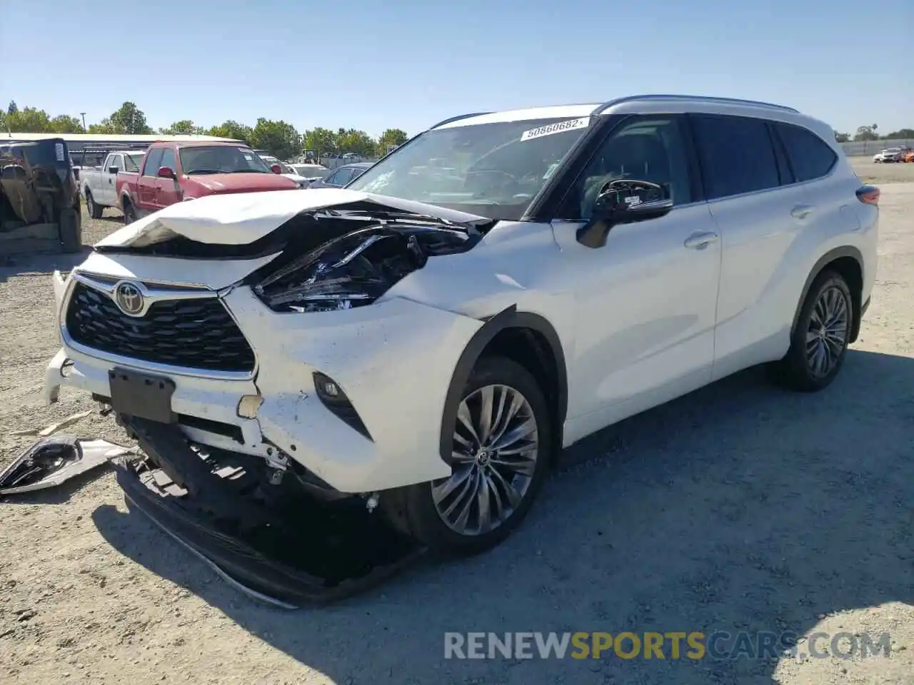
<instances>
[{"instance_id":1,"label":"black mesh front grille below the Toyota emblem","mask_svg":"<svg viewBox=\"0 0 914 685\"><path fill-rule=\"evenodd\" d=\"M252 371L254 352L217 298L161 300L143 317L124 314L103 292L77 282L67 332L81 345L156 364Z\"/></svg>"}]
</instances>

